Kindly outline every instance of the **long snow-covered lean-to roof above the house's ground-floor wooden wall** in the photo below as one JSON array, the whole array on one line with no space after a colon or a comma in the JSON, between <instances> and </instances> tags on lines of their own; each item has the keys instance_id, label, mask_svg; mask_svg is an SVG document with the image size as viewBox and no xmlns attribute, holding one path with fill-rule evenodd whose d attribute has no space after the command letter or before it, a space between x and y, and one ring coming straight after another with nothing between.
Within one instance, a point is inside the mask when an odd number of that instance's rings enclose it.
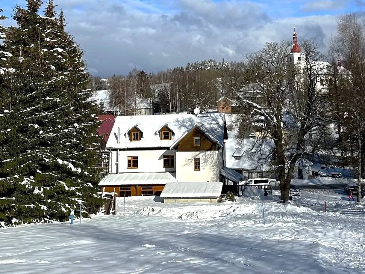
<instances>
[{"instance_id":1,"label":"long snow-covered lean-to roof above the house's ground-floor wooden wall","mask_svg":"<svg viewBox=\"0 0 365 274\"><path fill-rule=\"evenodd\" d=\"M109 174L99 186L121 186L126 184L165 184L176 182L176 172L130 172Z\"/></svg>"}]
</instances>

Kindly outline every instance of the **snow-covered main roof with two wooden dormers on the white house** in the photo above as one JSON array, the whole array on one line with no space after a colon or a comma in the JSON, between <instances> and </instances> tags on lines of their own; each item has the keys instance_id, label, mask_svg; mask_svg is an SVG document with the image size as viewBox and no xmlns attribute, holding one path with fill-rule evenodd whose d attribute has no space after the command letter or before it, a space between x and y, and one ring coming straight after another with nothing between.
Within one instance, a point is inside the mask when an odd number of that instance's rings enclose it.
<instances>
[{"instance_id":1,"label":"snow-covered main roof with two wooden dormers on the white house","mask_svg":"<svg viewBox=\"0 0 365 274\"><path fill-rule=\"evenodd\" d=\"M166 115L136 115L136 116L118 116L107 142L107 148L169 148L181 136L189 132L197 123L201 122L200 130L205 130L207 137L217 139L223 144L224 133L224 114L166 114ZM167 124L174 132L171 140L160 140L157 130L161 125ZM140 141L131 142L128 135L125 134L129 129L138 126L143 132ZM117 133L120 129L120 142L117 144Z\"/></svg>"}]
</instances>

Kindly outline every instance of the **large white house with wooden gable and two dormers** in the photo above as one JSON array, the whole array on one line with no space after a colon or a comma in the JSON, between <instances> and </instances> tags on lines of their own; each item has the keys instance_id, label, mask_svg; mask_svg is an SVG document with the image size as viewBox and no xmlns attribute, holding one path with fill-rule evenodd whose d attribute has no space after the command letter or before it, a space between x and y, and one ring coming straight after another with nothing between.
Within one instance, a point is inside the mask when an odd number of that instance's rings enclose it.
<instances>
[{"instance_id":1,"label":"large white house with wooden gable and two dormers","mask_svg":"<svg viewBox=\"0 0 365 274\"><path fill-rule=\"evenodd\" d=\"M158 195L169 182L239 180L223 170L224 133L221 113L118 116L106 145L110 174L99 186Z\"/></svg>"}]
</instances>

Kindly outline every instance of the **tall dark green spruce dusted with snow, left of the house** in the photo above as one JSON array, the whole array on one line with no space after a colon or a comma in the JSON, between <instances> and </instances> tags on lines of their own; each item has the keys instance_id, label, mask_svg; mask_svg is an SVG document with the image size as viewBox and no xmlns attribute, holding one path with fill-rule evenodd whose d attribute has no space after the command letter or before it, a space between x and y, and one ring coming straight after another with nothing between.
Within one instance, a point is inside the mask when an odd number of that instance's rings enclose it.
<instances>
[{"instance_id":1,"label":"tall dark green spruce dusted with snow, left of the house","mask_svg":"<svg viewBox=\"0 0 365 274\"><path fill-rule=\"evenodd\" d=\"M7 30L4 50L12 73L0 113L0 221L5 224L68 220L82 203L88 217L101 206L96 159L97 106L87 99L83 52L65 32L54 4L37 14L40 0L15 7L18 27Z\"/></svg>"}]
</instances>

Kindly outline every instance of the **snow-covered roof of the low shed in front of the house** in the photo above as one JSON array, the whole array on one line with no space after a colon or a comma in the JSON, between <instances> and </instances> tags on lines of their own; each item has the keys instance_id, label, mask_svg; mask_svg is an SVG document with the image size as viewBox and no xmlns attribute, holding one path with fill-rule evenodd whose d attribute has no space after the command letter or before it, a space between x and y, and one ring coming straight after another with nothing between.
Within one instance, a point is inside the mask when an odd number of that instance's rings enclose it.
<instances>
[{"instance_id":1,"label":"snow-covered roof of the low shed in front of the house","mask_svg":"<svg viewBox=\"0 0 365 274\"><path fill-rule=\"evenodd\" d=\"M222 182L179 182L167 183L161 198L218 198L222 193Z\"/></svg>"}]
</instances>

